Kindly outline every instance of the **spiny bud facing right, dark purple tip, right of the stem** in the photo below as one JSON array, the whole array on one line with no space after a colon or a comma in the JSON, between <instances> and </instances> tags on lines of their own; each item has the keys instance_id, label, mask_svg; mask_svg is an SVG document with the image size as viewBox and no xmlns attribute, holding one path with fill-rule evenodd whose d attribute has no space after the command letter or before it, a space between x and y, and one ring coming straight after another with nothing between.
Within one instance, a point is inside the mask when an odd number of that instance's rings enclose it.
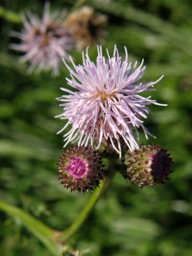
<instances>
[{"instance_id":1,"label":"spiny bud facing right, dark purple tip, right of the stem","mask_svg":"<svg viewBox=\"0 0 192 256\"><path fill-rule=\"evenodd\" d=\"M168 175L173 172L170 169L173 161L167 150L160 149L158 145L142 145L138 150L128 152L125 155L126 172L124 178L128 178L132 185L140 187L154 187L158 183L169 180Z\"/></svg>"}]
</instances>

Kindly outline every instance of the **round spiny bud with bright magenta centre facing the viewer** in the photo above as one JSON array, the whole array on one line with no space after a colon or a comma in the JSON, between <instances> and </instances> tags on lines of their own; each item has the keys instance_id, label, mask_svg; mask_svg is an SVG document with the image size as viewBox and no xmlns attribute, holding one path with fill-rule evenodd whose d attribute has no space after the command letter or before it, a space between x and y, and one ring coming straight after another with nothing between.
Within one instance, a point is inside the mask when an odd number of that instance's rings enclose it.
<instances>
[{"instance_id":1,"label":"round spiny bud with bright magenta centre facing the viewer","mask_svg":"<svg viewBox=\"0 0 192 256\"><path fill-rule=\"evenodd\" d=\"M98 153L90 147L75 146L64 151L59 159L58 175L61 184L71 191L93 190L102 179L102 164Z\"/></svg>"}]
</instances>

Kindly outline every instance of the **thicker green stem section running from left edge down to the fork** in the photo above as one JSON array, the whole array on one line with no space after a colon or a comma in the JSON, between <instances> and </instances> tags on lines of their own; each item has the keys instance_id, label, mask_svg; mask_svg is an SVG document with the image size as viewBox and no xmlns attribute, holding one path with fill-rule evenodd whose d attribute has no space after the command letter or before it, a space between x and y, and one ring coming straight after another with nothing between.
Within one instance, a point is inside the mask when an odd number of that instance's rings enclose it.
<instances>
[{"instance_id":1,"label":"thicker green stem section running from left edge down to the fork","mask_svg":"<svg viewBox=\"0 0 192 256\"><path fill-rule=\"evenodd\" d=\"M44 245L53 253L60 255L62 248L56 243L58 237L57 231L51 229L41 221L30 216L21 209L0 201L0 209L5 211L13 218L19 219Z\"/></svg>"}]
</instances>

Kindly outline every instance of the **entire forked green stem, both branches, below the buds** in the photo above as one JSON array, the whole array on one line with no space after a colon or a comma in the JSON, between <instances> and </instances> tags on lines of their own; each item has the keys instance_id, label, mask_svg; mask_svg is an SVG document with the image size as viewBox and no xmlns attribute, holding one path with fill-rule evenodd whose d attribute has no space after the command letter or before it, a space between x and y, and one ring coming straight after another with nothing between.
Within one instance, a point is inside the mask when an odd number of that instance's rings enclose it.
<instances>
[{"instance_id":1,"label":"entire forked green stem, both branches, below the buds","mask_svg":"<svg viewBox=\"0 0 192 256\"><path fill-rule=\"evenodd\" d=\"M63 242L70 239L73 234L80 228L80 226L89 216L97 201L100 199L112 181L116 173L114 170L115 163L115 158L109 159L109 170L106 172L104 181L101 182L100 187L95 189L94 194L90 198L89 202L77 216L72 225L63 232L48 227L41 221L29 215L27 212L24 212L22 209L9 205L1 200L0 209L5 211L11 217L19 219L24 224L24 226L26 226L34 234L34 236L36 236L42 243L44 243L44 245L53 253L53 255L61 255L64 251L66 252L69 250L69 247L64 246Z\"/></svg>"}]
</instances>

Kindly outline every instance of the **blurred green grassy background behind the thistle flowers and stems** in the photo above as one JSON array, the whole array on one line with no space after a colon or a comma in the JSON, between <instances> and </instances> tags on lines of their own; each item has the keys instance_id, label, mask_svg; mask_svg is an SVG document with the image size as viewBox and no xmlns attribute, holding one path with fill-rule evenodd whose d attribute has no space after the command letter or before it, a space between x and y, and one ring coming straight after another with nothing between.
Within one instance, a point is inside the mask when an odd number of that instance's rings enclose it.
<instances>
[{"instance_id":1,"label":"blurred green grassy background behind the thistle flowers and stems","mask_svg":"<svg viewBox=\"0 0 192 256\"><path fill-rule=\"evenodd\" d=\"M74 1L52 1L51 10L72 8ZM145 121L157 139L140 142L166 147L174 159L171 180L155 189L132 186L117 174L94 211L71 240L82 255L189 256L192 254L192 2L190 0L90 0L88 6L108 16L103 48L117 44L130 60L147 66L144 80L164 78L152 99L168 106L152 106ZM22 25L17 14L29 8L39 16L44 1L2 0L0 8L0 195L9 204L29 212L52 228L70 225L90 193L70 193L57 180L56 163L62 151L63 121L56 97L66 86L68 70L61 74L29 75L28 64L9 49L11 30ZM12 16L4 13L13 11ZM10 18L11 17L11 18ZM96 47L90 47L96 57ZM104 52L104 51L103 51ZM70 54L81 63L81 52ZM147 95L147 94L146 94ZM0 212L0 254L52 255L18 219Z\"/></svg>"}]
</instances>

